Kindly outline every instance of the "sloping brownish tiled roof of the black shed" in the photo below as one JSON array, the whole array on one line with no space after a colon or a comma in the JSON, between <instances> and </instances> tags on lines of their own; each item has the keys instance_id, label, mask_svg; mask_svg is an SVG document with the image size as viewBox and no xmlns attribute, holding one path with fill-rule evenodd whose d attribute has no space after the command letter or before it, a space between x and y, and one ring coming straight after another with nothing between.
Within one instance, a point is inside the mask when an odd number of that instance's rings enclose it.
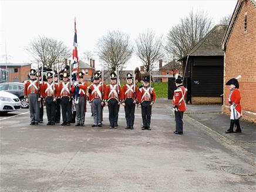
<instances>
[{"instance_id":1,"label":"sloping brownish tiled roof of the black shed","mask_svg":"<svg viewBox=\"0 0 256 192\"><path fill-rule=\"evenodd\" d=\"M200 40L193 47L193 49L188 52L189 56L223 56L224 52L221 50L221 40L225 34L227 25L215 25L210 32L207 33L203 39ZM186 57L186 56L184 56ZM183 57L183 58L184 58Z\"/></svg>"}]
</instances>

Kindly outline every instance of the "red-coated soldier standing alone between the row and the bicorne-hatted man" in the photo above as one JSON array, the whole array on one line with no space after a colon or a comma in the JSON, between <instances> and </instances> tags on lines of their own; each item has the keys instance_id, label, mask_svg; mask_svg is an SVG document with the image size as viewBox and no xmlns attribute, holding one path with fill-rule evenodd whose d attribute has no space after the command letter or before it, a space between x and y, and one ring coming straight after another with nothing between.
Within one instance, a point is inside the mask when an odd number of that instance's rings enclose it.
<instances>
[{"instance_id":1,"label":"red-coated soldier standing alone between the row and the bicorne-hatted man","mask_svg":"<svg viewBox=\"0 0 256 192\"><path fill-rule=\"evenodd\" d=\"M183 113L186 111L186 95L187 89L182 84L182 78L178 76L175 80L177 89L173 95L173 110L176 122L175 134L183 134Z\"/></svg>"}]
</instances>

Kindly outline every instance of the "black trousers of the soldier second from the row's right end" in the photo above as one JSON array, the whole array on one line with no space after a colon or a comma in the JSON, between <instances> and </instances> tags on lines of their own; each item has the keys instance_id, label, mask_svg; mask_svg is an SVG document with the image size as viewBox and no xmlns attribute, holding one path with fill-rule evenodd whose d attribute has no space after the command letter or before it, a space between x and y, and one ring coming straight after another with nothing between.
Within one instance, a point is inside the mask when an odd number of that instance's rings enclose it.
<instances>
[{"instance_id":1,"label":"black trousers of the soldier second from the row's right end","mask_svg":"<svg viewBox=\"0 0 256 192\"><path fill-rule=\"evenodd\" d=\"M135 111L135 104L133 103L133 98L127 98L124 106L125 111L125 118L126 118L126 125L133 126L134 124L134 111Z\"/></svg>"}]
</instances>

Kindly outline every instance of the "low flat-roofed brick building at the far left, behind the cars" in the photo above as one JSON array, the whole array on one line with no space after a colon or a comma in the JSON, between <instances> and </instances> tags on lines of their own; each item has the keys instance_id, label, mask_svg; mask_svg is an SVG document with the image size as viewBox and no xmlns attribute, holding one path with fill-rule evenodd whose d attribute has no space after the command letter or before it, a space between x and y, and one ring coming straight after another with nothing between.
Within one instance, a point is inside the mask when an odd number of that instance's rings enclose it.
<instances>
[{"instance_id":1,"label":"low flat-roofed brick building at the far left, behind the cars","mask_svg":"<svg viewBox=\"0 0 256 192\"><path fill-rule=\"evenodd\" d=\"M28 73L31 69L31 63L1 63L0 68L8 70L9 82L23 82L28 80Z\"/></svg>"}]
</instances>

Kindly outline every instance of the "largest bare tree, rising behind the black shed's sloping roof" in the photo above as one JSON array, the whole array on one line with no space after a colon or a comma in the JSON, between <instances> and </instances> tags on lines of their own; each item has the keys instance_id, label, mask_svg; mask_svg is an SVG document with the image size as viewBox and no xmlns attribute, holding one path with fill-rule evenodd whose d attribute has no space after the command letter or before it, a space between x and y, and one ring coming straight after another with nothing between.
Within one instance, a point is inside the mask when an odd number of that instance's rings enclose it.
<instances>
[{"instance_id":1,"label":"largest bare tree, rising behind the black shed's sloping roof","mask_svg":"<svg viewBox=\"0 0 256 192\"><path fill-rule=\"evenodd\" d=\"M193 10L188 16L180 19L180 23L167 33L166 50L174 57L186 55L212 28L212 21L207 13Z\"/></svg>"}]
</instances>

